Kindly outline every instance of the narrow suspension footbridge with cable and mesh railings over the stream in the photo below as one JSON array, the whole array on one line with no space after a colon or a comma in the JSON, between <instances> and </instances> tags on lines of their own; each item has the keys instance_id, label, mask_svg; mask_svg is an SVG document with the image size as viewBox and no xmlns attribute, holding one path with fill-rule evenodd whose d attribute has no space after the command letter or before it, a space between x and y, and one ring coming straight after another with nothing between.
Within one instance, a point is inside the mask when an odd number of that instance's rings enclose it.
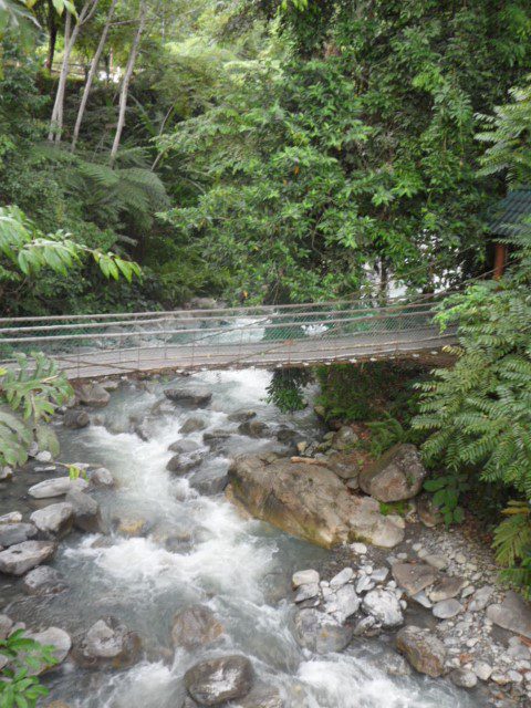
<instances>
[{"instance_id":1,"label":"narrow suspension footbridge with cable and mesh railings over the stream","mask_svg":"<svg viewBox=\"0 0 531 708\"><path fill-rule=\"evenodd\" d=\"M43 352L73 381L419 356L435 362L456 342L454 330L441 333L434 324L439 299L3 317L0 360L13 366L20 354Z\"/></svg>"}]
</instances>

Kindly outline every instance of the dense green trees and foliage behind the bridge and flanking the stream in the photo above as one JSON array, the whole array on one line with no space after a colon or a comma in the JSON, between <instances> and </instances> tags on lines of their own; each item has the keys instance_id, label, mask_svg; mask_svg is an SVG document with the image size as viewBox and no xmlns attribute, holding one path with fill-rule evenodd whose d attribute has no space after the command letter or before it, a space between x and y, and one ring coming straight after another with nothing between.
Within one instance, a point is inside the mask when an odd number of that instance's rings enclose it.
<instances>
[{"instance_id":1,"label":"dense green trees and foliage behind the bridge and flanking the stream","mask_svg":"<svg viewBox=\"0 0 531 708\"><path fill-rule=\"evenodd\" d=\"M0 0L0 40L7 315L451 288L491 269L489 210L531 183L527 0ZM319 375L329 417L425 440L447 520L478 479L513 500L496 544L528 587L530 233L502 281L441 306L452 368L416 393L382 367ZM52 400L28 414L44 435L64 392L2 375L15 413L17 386ZM397 376L382 420L372 392ZM271 399L300 408L306 379L277 374Z\"/></svg>"}]
</instances>

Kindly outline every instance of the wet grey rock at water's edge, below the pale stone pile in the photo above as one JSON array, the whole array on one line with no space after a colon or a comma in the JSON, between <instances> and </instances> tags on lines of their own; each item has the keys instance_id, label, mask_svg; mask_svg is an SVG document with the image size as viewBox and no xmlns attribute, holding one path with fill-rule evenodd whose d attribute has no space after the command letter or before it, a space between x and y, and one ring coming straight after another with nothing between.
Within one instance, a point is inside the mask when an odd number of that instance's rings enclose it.
<instances>
[{"instance_id":1,"label":"wet grey rock at water's edge, below the pale stone pile","mask_svg":"<svg viewBox=\"0 0 531 708\"><path fill-rule=\"evenodd\" d=\"M299 646L316 654L342 652L352 641L353 628L313 608L300 610L294 618Z\"/></svg>"}]
</instances>

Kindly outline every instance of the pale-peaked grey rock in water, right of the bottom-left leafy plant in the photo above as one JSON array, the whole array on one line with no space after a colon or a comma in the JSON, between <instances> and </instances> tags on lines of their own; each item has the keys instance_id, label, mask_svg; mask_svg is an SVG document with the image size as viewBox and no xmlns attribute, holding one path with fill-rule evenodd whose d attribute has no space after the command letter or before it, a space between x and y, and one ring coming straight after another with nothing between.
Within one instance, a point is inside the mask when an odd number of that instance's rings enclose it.
<instances>
[{"instance_id":1,"label":"pale-peaked grey rock in water, right of the bottom-left leafy plant","mask_svg":"<svg viewBox=\"0 0 531 708\"><path fill-rule=\"evenodd\" d=\"M135 664L139 652L140 639L135 632L114 617L104 617L77 639L73 654L85 668L125 668Z\"/></svg>"}]
</instances>

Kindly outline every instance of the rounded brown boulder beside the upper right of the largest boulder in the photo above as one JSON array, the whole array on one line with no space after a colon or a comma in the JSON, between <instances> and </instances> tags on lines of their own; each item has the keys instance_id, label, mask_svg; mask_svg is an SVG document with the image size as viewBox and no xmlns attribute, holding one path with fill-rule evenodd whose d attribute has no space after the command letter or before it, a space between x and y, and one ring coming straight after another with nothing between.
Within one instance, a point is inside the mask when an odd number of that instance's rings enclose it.
<instances>
[{"instance_id":1,"label":"rounded brown boulder beside the upper right of the largest boulder","mask_svg":"<svg viewBox=\"0 0 531 708\"><path fill-rule=\"evenodd\" d=\"M402 501L418 494L426 470L414 445L395 445L360 475L360 487L378 501Z\"/></svg>"}]
</instances>

